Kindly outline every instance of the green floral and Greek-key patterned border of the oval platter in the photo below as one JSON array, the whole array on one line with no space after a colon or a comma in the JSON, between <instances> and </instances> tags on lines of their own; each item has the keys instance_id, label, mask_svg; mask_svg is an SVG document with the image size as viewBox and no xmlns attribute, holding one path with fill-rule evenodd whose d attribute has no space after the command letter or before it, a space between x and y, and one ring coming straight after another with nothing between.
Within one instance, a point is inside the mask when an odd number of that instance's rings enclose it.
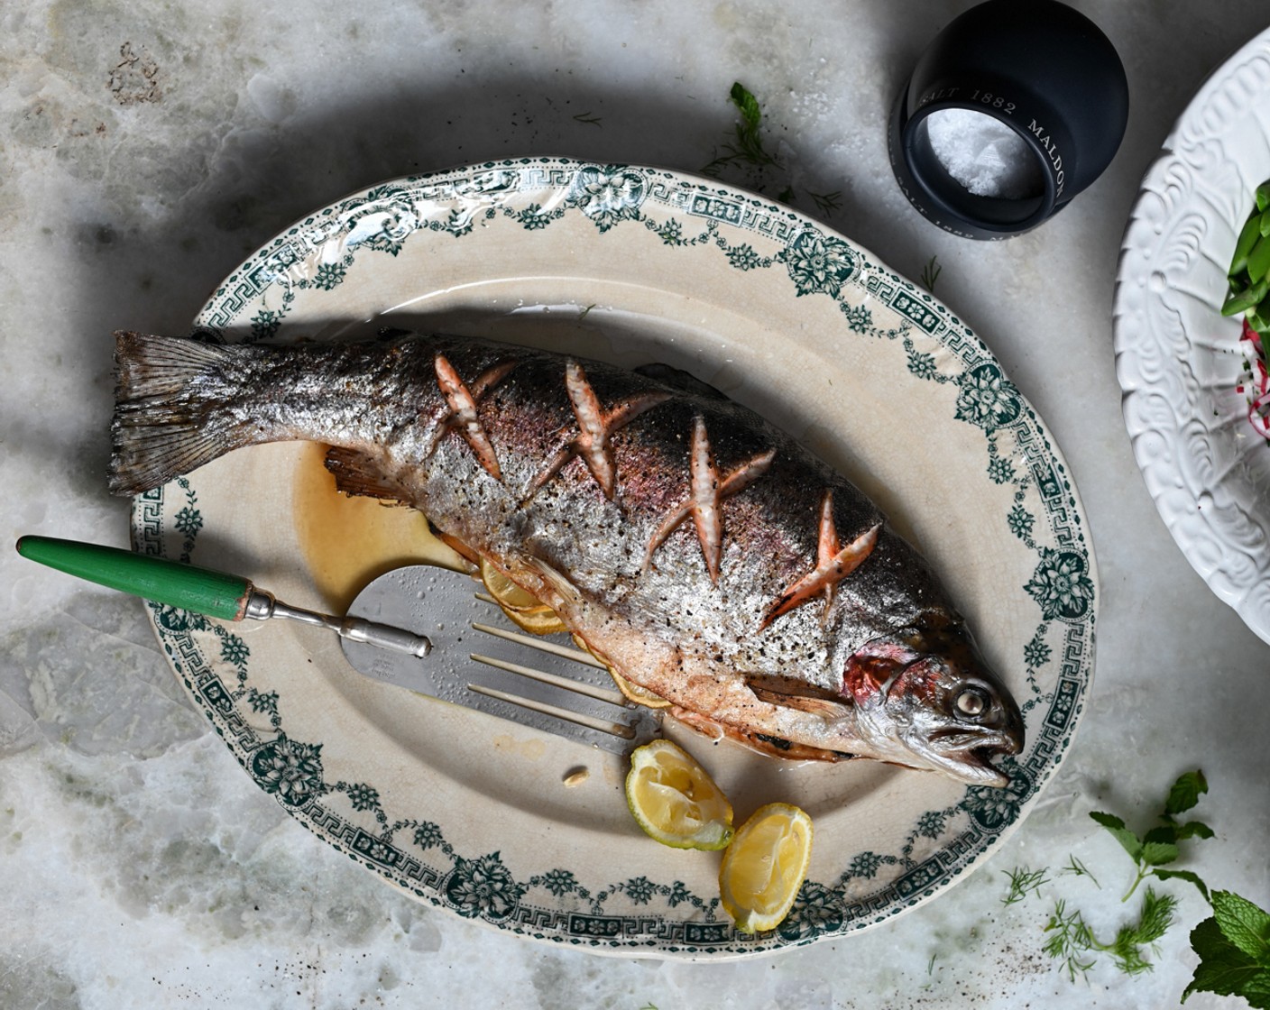
<instances>
[{"instance_id":1,"label":"green floral and Greek-key patterned border of the oval platter","mask_svg":"<svg viewBox=\"0 0 1270 1010\"><path fill-rule=\"evenodd\" d=\"M560 198L542 206L522 196L544 191ZM248 306L271 292L276 307L255 311L243 334L267 339L284 325L297 291L335 290L363 253L396 257L424 230L462 240L478 224L541 231L570 215L599 232L653 231L667 254L705 245L732 269L784 272L798 297L838 302L845 338L898 343L918 380L955 385L952 419L982 433L987 478L1013 488L1008 531L1036 558L1020 587L1036 607L1036 631L1019 657L1030 691L1020 699L1029 743L1003 762L1010 786L969 786L958 803L921 814L897 849L851 854L837 877L803 885L779 929L751 936L732 927L716 894L692 893L679 880L582 880L561 866L517 878L498 851L456 851L443 813L389 811L373 783L331 781L323 744L287 734L284 700L253 683L250 649L232 630L151 605L163 648L263 790L337 850L460 916L597 950L697 958L809 944L890 919L964 874L1017 822L1071 741L1093 667L1095 569L1071 479L1040 418L945 306L810 219L714 180L516 159L395 180L306 217L235 271L197 325L212 338L236 333ZM759 254L756 243L776 250ZM316 269L296 269L315 257ZM875 325L860 295L892 309L898 323ZM951 353L933 353L940 349ZM132 522L138 550L189 560L203 526L197 488L180 478L138 497ZM259 728L265 720L269 731Z\"/></svg>"}]
</instances>

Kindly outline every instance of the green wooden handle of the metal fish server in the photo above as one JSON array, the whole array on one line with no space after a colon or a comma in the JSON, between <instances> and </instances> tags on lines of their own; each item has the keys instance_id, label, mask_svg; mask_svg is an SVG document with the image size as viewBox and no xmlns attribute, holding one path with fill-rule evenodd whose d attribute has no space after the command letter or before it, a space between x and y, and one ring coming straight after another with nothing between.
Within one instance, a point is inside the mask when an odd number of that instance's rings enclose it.
<instances>
[{"instance_id":1,"label":"green wooden handle of the metal fish server","mask_svg":"<svg viewBox=\"0 0 1270 1010\"><path fill-rule=\"evenodd\" d=\"M24 536L18 553L99 586L227 621L243 619L253 591L241 576L76 540Z\"/></svg>"}]
</instances>

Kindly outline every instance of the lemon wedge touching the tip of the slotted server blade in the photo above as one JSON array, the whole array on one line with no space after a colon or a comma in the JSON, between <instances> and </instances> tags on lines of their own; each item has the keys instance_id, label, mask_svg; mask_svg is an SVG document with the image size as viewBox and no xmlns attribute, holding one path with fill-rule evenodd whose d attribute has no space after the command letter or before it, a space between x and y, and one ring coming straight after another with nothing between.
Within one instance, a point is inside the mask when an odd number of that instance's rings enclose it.
<instances>
[{"instance_id":1,"label":"lemon wedge touching the tip of the slotted server blade","mask_svg":"<svg viewBox=\"0 0 1270 1010\"><path fill-rule=\"evenodd\" d=\"M626 804L645 833L672 849L723 849L732 804L692 756L668 739L635 750Z\"/></svg>"}]
</instances>

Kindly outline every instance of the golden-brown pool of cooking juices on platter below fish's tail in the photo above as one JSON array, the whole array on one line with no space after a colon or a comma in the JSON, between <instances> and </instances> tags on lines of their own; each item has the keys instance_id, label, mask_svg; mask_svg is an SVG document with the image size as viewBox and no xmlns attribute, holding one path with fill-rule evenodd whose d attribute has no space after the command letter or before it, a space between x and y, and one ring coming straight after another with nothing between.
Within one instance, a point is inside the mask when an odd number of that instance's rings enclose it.
<instances>
[{"instance_id":1,"label":"golden-brown pool of cooking juices on platter below fish's tail","mask_svg":"<svg viewBox=\"0 0 1270 1010\"><path fill-rule=\"evenodd\" d=\"M296 465L293 508L309 573L333 612L345 614L371 581L401 565L464 570L462 559L432 535L422 512L335 490L325 456L325 446L305 445Z\"/></svg>"}]
</instances>

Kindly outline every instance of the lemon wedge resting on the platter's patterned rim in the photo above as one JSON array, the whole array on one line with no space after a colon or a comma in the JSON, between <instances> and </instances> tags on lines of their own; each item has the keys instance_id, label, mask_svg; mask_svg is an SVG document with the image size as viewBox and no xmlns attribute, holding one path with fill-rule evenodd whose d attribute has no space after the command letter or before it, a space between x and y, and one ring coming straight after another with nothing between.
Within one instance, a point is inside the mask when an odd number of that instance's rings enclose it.
<instances>
[{"instance_id":1,"label":"lemon wedge resting on the platter's patterned rim","mask_svg":"<svg viewBox=\"0 0 1270 1010\"><path fill-rule=\"evenodd\" d=\"M812 860L812 818L789 803L759 807L723 855L719 897L742 933L776 929Z\"/></svg>"}]
</instances>

